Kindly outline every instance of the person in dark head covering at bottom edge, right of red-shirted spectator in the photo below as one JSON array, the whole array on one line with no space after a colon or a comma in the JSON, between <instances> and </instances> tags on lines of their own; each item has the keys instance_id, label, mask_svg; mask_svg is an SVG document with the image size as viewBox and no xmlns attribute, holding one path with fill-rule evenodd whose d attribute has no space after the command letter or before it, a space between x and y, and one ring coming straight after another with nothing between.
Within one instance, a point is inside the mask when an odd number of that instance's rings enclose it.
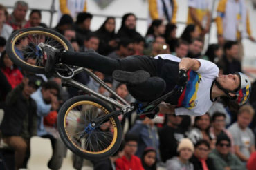
<instances>
[{"instance_id":1,"label":"person in dark head covering at bottom edge, right of red-shirted spectator","mask_svg":"<svg viewBox=\"0 0 256 170\"><path fill-rule=\"evenodd\" d=\"M141 162L145 170L156 170L156 149L153 147L145 148L143 155L141 156Z\"/></svg>"}]
</instances>

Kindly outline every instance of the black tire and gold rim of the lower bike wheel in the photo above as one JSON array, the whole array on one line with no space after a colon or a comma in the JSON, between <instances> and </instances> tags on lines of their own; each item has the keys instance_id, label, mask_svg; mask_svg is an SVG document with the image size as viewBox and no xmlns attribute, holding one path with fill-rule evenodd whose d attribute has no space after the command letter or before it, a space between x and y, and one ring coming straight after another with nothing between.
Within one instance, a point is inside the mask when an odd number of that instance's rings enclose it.
<instances>
[{"instance_id":1,"label":"black tire and gold rim of the lower bike wheel","mask_svg":"<svg viewBox=\"0 0 256 170\"><path fill-rule=\"evenodd\" d=\"M113 125L113 140L111 141L109 146L107 146L104 150L95 151L95 152L89 151L86 148L82 149L81 146L77 145L77 143L72 141L74 137L72 137L72 134L68 132L68 126L70 126L71 124L74 124L74 120L75 120L75 123L77 123L77 120L81 117L77 116L77 114L73 114L75 115L73 117L68 117L67 114L71 113L74 107L77 107L78 105L82 105L82 104L93 105L95 107L98 107L98 109L102 109L102 111L104 111L104 114L109 114L112 111L109 105L105 104L102 100L98 98L95 98L92 96L75 96L67 100L66 103L62 105L59 111L58 118L57 118L57 127L59 130L60 137L62 138L64 144L66 145L66 147L68 147L68 149L70 149L77 156L81 156L82 158L85 158L88 160L96 160L96 159L99 160L99 159L103 159L111 156L113 153L115 153L118 150L122 142L122 127L117 117L109 118L109 120L112 123L111 125ZM75 111L73 111L73 113L75 113ZM86 114L90 114L90 112ZM86 117L85 114L84 114L84 117ZM90 117L90 115L88 117ZM69 120L72 120L72 121L69 122ZM80 127L80 125L77 124L77 127ZM93 133L95 133L94 134L95 136L99 135L98 131L93 131L91 136L93 136ZM109 133L109 132L106 132L106 133ZM78 136L79 133L74 133L74 134L77 134ZM87 138L86 138L86 141L87 141L88 138L90 138L90 134L86 134L86 135L87 135ZM80 140L82 139L80 138ZM106 138L106 141L107 141L107 138ZM101 143L99 142L99 144Z\"/></svg>"}]
</instances>

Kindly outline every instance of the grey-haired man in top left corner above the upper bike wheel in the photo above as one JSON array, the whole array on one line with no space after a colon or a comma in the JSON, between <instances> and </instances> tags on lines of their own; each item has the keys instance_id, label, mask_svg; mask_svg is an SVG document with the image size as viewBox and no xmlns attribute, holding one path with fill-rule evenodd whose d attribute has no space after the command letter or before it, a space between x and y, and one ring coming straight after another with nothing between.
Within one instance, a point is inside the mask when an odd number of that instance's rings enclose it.
<instances>
[{"instance_id":1,"label":"grey-haired man in top left corner above the upper bike wheel","mask_svg":"<svg viewBox=\"0 0 256 170\"><path fill-rule=\"evenodd\" d=\"M25 1L16 1L12 14L9 15L7 23L13 28L13 30L19 30L24 28L27 21L25 19L28 11L28 3Z\"/></svg>"}]
</instances>

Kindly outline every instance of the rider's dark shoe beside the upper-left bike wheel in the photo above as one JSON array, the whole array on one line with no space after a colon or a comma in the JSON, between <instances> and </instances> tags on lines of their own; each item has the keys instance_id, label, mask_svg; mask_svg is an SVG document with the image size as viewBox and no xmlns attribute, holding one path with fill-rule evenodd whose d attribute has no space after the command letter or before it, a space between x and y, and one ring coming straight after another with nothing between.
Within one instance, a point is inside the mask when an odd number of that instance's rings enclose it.
<instances>
[{"instance_id":1,"label":"rider's dark shoe beside the upper-left bike wheel","mask_svg":"<svg viewBox=\"0 0 256 170\"><path fill-rule=\"evenodd\" d=\"M51 47L50 45L44 45L41 48L44 59L46 60L44 70L46 72L51 72L57 61L57 56L55 54L60 52L60 50L57 50L56 48Z\"/></svg>"}]
</instances>

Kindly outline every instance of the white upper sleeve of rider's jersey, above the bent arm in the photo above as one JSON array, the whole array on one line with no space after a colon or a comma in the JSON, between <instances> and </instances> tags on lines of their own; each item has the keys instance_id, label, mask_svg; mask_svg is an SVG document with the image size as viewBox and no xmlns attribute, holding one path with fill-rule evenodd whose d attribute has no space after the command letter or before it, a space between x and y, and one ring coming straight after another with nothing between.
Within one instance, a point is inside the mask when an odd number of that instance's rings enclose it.
<instances>
[{"instance_id":1,"label":"white upper sleeve of rider's jersey, above the bent arm","mask_svg":"<svg viewBox=\"0 0 256 170\"><path fill-rule=\"evenodd\" d=\"M216 64L203 59L196 60L201 64L199 70L196 71L201 74L201 76L204 76L205 78L216 78L219 75L219 68Z\"/></svg>"}]
</instances>

